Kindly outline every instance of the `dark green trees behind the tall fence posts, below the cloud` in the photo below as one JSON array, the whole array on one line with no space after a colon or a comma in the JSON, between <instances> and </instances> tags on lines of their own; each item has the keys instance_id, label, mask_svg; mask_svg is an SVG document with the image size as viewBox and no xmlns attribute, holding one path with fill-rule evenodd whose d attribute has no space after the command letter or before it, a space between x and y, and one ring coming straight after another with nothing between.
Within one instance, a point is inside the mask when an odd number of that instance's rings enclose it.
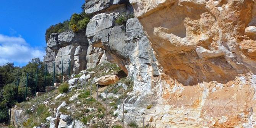
<instances>
[{"instance_id":1,"label":"dark green trees behind the tall fence posts, below the cloud","mask_svg":"<svg viewBox=\"0 0 256 128\"><path fill-rule=\"evenodd\" d=\"M38 79L37 87L35 87L37 69ZM0 66L0 123L8 120L6 110L11 105L25 100L27 73L29 74L27 96L34 96L36 91L43 92L45 90L45 66L39 58L31 59L22 68L15 67L14 63L6 63L6 65ZM19 87L17 93L18 80ZM49 84L52 85L52 75L48 73L46 85L48 86Z\"/></svg>"}]
</instances>

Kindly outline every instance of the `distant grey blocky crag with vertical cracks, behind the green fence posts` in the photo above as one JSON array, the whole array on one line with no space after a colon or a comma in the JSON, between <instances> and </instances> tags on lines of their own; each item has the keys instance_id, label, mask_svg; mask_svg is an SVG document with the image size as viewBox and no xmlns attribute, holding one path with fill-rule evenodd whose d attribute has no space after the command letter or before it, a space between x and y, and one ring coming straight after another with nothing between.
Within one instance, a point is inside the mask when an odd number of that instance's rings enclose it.
<instances>
[{"instance_id":1,"label":"distant grey blocky crag with vertical cracks, behind the green fence posts","mask_svg":"<svg viewBox=\"0 0 256 128\"><path fill-rule=\"evenodd\" d=\"M100 63L107 63L104 60L104 50L94 48L88 44L85 32L74 33L72 31L63 33L53 33L47 42L46 56L44 62L47 64L49 72L53 72L54 62L55 71L68 75L69 65L70 74L78 74L86 68L93 68Z\"/></svg>"}]
</instances>

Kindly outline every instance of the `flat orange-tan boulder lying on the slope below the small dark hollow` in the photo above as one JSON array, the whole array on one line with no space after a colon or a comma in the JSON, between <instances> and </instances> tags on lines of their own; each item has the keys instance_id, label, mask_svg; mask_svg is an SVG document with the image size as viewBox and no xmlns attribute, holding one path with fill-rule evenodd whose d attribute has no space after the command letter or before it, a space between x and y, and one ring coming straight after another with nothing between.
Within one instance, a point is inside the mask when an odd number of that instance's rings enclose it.
<instances>
[{"instance_id":1,"label":"flat orange-tan boulder lying on the slope below the small dark hollow","mask_svg":"<svg viewBox=\"0 0 256 128\"><path fill-rule=\"evenodd\" d=\"M117 83L118 80L119 78L117 75L106 75L95 79L94 83L100 85L109 85Z\"/></svg>"}]
</instances>

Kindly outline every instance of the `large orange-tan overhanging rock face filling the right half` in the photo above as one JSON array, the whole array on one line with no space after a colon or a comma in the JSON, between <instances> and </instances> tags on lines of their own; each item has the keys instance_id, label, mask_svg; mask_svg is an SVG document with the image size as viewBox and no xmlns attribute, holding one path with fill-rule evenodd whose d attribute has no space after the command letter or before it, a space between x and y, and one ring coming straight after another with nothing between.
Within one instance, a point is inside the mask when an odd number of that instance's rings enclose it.
<instances>
[{"instance_id":1,"label":"large orange-tan overhanging rock face filling the right half","mask_svg":"<svg viewBox=\"0 0 256 128\"><path fill-rule=\"evenodd\" d=\"M151 126L256 126L255 1L130 2L160 68Z\"/></svg>"}]
</instances>

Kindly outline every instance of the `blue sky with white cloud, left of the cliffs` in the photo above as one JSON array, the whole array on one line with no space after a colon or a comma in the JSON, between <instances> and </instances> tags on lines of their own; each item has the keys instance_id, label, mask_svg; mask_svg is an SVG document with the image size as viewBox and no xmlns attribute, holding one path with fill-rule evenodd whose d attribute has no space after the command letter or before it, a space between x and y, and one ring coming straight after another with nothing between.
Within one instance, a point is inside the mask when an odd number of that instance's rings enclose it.
<instances>
[{"instance_id":1,"label":"blue sky with white cloud, left of the cliffs","mask_svg":"<svg viewBox=\"0 0 256 128\"><path fill-rule=\"evenodd\" d=\"M85 0L0 0L0 65L45 55L45 30L80 13Z\"/></svg>"}]
</instances>

